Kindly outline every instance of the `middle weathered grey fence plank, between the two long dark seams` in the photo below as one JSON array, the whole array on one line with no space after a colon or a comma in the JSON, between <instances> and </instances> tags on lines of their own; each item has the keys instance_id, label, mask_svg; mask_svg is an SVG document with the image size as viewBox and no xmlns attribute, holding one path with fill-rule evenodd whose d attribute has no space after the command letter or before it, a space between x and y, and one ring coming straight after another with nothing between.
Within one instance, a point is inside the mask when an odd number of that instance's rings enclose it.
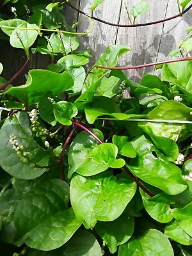
<instances>
[{"instance_id":1,"label":"middle weathered grey fence plank, between the two long dark seams","mask_svg":"<svg viewBox=\"0 0 192 256\"><path fill-rule=\"evenodd\" d=\"M135 3L137 3L135 0L127 1L127 8L130 9L131 6L133 6ZM164 19L168 0L148 0L148 3L148 12L140 15L136 19L136 23L145 23ZM120 23L127 24L127 22L127 13L124 6L122 6ZM138 28L119 28L116 44L127 44L132 49L131 52L127 52L127 54L122 56L119 61L119 65L141 65L143 63L156 61L162 30L162 23ZM138 70L130 70L127 72L127 74L129 74L131 79L138 81L143 76L143 74L152 73L153 70L153 67L142 68Z\"/></svg>"}]
</instances>

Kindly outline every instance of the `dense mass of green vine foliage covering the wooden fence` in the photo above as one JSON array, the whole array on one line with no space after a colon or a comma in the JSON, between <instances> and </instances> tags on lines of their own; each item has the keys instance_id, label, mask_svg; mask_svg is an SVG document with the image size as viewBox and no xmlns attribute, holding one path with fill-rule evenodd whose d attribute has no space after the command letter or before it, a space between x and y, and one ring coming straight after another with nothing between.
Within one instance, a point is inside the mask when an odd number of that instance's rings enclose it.
<instances>
[{"instance_id":1,"label":"dense mass of green vine foliage covering the wooden fence","mask_svg":"<svg viewBox=\"0 0 192 256\"><path fill-rule=\"evenodd\" d=\"M31 54L50 56L25 84L0 77L1 250L192 255L192 62L161 65L161 79L140 83L122 70L86 71L91 53L78 51L65 4L1 2L1 40L26 52L21 70ZM147 8L127 9L130 21ZM189 56L190 33L172 56ZM116 67L127 51L108 46L95 65Z\"/></svg>"}]
</instances>

